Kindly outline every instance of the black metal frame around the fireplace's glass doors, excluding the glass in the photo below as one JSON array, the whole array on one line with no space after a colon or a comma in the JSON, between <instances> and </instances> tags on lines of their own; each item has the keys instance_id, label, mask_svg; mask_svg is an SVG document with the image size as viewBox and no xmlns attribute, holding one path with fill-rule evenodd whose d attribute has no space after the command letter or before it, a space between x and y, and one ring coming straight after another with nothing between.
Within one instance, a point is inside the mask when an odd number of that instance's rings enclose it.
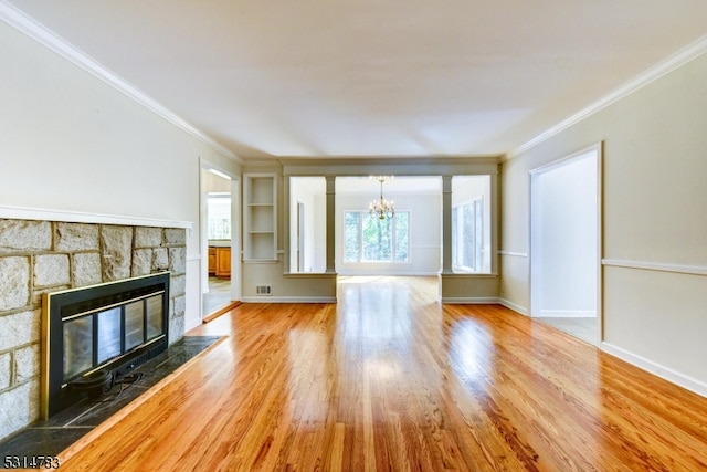
<instances>
[{"instance_id":1,"label":"black metal frame around the fireplace's glass doors, excluding the glass","mask_svg":"<svg viewBox=\"0 0 707 472\"><path fill-rule=\"evenodd\" d=\"M169 342L169 281L170 272L160 272L43 295L40 408L42 419L46 420L85 397L85 394L76 391L64 378L64 319L83 314L92 316L110 306L123 306L136 300L161 294L161 335L122 353L117 357L107 359L103 364L94 365L77 377L89 377L102 370L109 373L114 378L118 375L126 375L129 370L167 349ZM94 339L93 343L95 350L96 340Z\"/></svg>"}]
</instances>

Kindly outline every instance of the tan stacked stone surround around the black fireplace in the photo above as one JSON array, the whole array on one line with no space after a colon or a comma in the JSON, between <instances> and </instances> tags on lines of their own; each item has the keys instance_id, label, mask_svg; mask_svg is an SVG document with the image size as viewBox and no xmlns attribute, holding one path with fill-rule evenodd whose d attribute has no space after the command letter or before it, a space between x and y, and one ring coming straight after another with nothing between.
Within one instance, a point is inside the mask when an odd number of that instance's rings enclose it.
<instances>
[{"instance_id":1,"label":"tan stacked stone surround around the black fireplace","mask_svg":"<svg viewBox=\"0 0 707 472\"><path fill-rule=\"evenodd\" d=\"M170 271L184 334L186 230L0 219L0 439L39 419L42 294Z\"/></svg>"}]
</instances>

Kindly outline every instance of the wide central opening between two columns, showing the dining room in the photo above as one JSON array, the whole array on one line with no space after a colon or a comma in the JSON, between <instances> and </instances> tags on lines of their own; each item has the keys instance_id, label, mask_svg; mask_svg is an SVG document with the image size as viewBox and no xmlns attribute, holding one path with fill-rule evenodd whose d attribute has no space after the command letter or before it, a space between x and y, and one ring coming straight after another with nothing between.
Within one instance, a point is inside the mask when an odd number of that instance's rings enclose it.
<instances>
[{"instance_id":1,"label":"wide central opening between two columns, showing the dining room","mask_svg":"<svg viewBox=\"0 0 707 472\"><path fill-rule=\"evenodd\" d=\"M383 193L384 192L384 193ZM380 218L380 198L394 216ZM430 276L442 269L442 179L437 176L369 176L336 179L335 252L339 275Z\"/></svg>"}]
</instances>

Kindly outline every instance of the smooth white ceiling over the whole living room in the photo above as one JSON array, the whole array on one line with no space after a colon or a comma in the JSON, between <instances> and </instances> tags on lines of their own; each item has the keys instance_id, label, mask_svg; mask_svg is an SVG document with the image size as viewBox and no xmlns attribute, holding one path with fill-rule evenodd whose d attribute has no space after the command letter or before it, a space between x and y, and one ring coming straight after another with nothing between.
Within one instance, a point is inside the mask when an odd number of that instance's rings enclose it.
<instances>
[{"instance_id":1,"label":"smooth white ceiling over the whole living room","mask_svg":"<svg viewBox=\"0 0 707 472\"><path fill-rule=\"evenodd\" d=\"M500 155L707 33L705 0L11 3L244 160Z\"/></svg>"}]
</instances>

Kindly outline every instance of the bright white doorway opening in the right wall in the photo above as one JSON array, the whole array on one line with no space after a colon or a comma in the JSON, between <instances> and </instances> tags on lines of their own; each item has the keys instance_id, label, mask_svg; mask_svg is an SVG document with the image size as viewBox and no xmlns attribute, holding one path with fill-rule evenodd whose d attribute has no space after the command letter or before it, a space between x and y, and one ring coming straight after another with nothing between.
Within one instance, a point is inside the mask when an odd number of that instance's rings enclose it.
<instances>
[{"instance_id":1,"label":"bright white doorway opening in the right wall","mask_svg":"<svg viewBox=\"0 0 707 472\"><path fill-rule=\"evenodd\" d=\"M601 147L530 172L530 315L601 342Z\"/></svg>"}]
</instances>

